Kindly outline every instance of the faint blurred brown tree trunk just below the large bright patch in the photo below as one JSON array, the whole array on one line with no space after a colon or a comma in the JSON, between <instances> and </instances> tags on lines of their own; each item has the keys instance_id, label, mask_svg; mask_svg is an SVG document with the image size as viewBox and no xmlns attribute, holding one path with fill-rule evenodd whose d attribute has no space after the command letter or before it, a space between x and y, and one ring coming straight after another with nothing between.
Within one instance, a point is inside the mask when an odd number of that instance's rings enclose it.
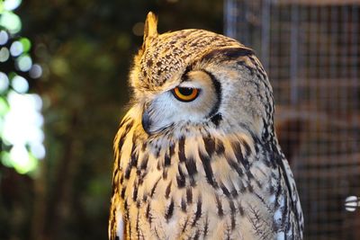
<instances>
[{"instance_id":1,"label":"faint blurred brown tree trunk just below the large bright patch","mask_svg":"<svg viewBox=\"0 0 360 240\"><path fill-rule=\"evenodd\" d=\"M77 114L76 111L69 123L68 134L62 142L65 143L63 157L56 166L56 178L53 184L49 183L49 162L41 164L41 177L35 182L35 208L33 218L34 240L56 239L58 231L64 224L64 218L71 214L71 190L76 173L77 160L74 156L74 142L76 142Z\"/></svg>"}]
</instances>

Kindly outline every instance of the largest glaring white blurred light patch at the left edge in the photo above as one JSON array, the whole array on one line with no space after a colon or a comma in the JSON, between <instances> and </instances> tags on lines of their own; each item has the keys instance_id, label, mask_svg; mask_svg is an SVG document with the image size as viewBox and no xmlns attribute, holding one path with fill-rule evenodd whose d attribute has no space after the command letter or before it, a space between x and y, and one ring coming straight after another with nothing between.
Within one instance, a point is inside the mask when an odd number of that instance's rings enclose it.
<instances>
[{"instance_id":1,"label":"largest glaring white blurred light patch at the left edge","mask_svg":"<svg viewBox=\"0 0 360 240\"><path fill-rule=\"evenodd\" d=\"M29 173L36 169L37 159L44 158L46 154L42 144L44 133L41 129L41 98L38 94L10 91L7 100L10 108L4 114L1 134L4 143L13 147L9 155L2 154L2 162L14 167L18 173Z\"/></svg>"}]
</instances>

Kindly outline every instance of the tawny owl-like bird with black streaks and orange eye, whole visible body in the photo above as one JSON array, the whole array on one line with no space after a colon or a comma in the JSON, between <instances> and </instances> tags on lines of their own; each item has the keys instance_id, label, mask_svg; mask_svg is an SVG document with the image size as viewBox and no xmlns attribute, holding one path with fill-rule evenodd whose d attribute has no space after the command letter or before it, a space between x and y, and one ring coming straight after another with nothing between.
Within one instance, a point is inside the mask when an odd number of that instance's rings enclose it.
<instances>
[{"instance_id":1,"label":"tawny owl-like bird with black streaks and orange eye, whole visible body","mask_svg":"<svg viewBox=\"0 0 360 240\"><path fill-rule=\"evenodd\" d=\"M114 139L109 238L302 239L274 99L252 49L211 31L157 33L148 13Z\"/></svg>"}]
</instances>

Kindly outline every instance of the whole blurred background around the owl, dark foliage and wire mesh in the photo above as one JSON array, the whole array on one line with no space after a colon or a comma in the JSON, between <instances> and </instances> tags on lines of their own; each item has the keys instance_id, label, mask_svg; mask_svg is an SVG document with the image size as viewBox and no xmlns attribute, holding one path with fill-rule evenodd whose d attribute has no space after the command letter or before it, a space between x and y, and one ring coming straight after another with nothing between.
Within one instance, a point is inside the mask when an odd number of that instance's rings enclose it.
<instances>
[{"instance_id":1,"label":"whole blurred background around the owl, dark foliage and wire mesh","mask_svg":"<svg viewBox=\"0 0 360 240\"><path fill-rule=\"evenodd\" d=\"M148 11L256 49L305 239L358 239L360 1L0 0L0 239L106 239L112 139ZM356 238L357 236L357 238Z\"/></svg>"}]
</instances>

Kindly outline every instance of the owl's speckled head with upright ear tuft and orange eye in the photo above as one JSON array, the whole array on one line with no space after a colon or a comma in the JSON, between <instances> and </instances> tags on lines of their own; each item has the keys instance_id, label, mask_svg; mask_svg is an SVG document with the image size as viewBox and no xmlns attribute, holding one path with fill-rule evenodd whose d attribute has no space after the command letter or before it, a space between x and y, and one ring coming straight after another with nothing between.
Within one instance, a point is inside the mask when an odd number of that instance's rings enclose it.
<instances>
[{"instance_id":1,"label":"owl's speckled head with upright ear tuft and orange eye","mask_svg":"<svg viewBox=\"0 0 360 240\"><path fill-rule=\"evenodd\" d=\"M191 127L260 136L272 125L271 86L253 50L210 31L158 34L153 13L130 84L150 136Z\"/></svg>"}]
</instances>

